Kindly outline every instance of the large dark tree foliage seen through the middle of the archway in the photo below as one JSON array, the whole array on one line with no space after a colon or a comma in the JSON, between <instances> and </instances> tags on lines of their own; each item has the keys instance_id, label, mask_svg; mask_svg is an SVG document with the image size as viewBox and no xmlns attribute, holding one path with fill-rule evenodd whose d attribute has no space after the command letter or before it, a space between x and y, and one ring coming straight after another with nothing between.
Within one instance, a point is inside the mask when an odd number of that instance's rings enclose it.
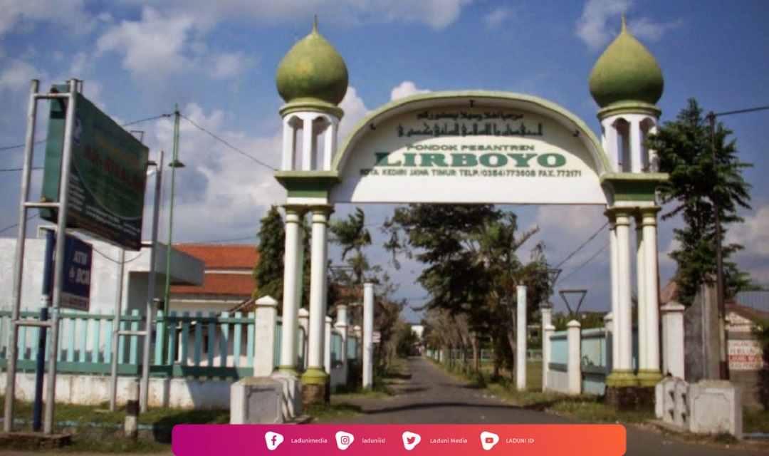
<instances>
[{"instance_id":1,"label":"large dark tree foliage seen through the middle of the archway","mask_svg":"<svg viewBox=\"0 0 769 456\"><path fill-rule=\"evenodd\" d=\"M518 233L515 215L492 205L410 205L396 209L384 229L386 248L426 266L417 280L431 295L428 309L466 315L475 334L514 348L517 286L531 289L529 314L547 289L541 248L526 265L517 255L538 228Z\"/></svg>"}]
</instances>

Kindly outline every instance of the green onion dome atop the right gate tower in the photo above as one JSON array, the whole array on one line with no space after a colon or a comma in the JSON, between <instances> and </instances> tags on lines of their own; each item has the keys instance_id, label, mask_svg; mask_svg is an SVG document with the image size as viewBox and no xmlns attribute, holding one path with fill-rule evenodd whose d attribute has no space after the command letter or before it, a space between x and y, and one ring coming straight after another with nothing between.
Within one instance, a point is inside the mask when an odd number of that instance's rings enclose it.
<instances>
[{"instance_id":1,"label":"green onion dome atop the right gate tower","mask_svg":"<svg viewBox=\"0 0 769 456\"><path fill-rule=\"evenodd\" d=\"M622 15L622 30L595 62L590 93L601 108L624 103L654 106L662 96L664 78L651 52L634 38Z\"/></svg>"}]
</instances>

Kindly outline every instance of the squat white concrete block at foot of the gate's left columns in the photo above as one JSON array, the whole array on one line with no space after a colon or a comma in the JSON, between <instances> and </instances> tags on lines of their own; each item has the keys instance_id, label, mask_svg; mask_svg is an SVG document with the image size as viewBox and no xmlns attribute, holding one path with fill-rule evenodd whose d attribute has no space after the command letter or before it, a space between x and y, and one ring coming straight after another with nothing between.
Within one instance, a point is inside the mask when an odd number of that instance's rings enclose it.
<instances>
[{"instance_id":1,"label":"squat white concrete block at foot of the gate's left columns","mask_svg":"<svg viewBox=\"0 0 769 456\"><path fill-rule=\"evenodd\" d=\"M232 384L230 424L282 424L283 384L272 378L241 378Z\"/></svg>"}]
</instances>

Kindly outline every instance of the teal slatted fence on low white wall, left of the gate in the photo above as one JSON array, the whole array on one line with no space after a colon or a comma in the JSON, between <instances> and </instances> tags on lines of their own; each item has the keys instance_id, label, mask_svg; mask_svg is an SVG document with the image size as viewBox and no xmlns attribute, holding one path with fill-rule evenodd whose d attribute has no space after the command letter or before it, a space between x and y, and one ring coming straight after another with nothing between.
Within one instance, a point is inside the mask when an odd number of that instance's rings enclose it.
<instances>
[{"instance_id":1,"label":"teal slatted fence on low white wall, left of the gate","mask_svg":"<svg viewBox=\"0 0 769 456\"><path fill-rule=\"evenodd\" d=\"M0 310L0 369L5 370L10 335L11 312ZM39 319L39 310L22 310L20 318ZM92 312L62 311L60 319L57 371L61 374L108 375L112 369L113 315ZM144 315L139 311L125 312L120 329L138 331L143 328ZM242 312L202 313L171 312L164 316L158 311L153 321L155 343L151 352L150 375L164 378L231 378L253 375L255 348L255 315ZM18 330L17 370L35 371L38 351L38 331L41 328L21 326ZM144 338L135 335L118 336L118 375L141 375L141 353ZM275 366L278 366L281 343L281 318L275 331ZM305 356L306 336L299 335L300 366ZM357 341L348 338L348 356L357 354ZM48 359L48 344L45 358ZM339 359L341 346L331 344L332 359Z\"/></svg>"}]
</instances>

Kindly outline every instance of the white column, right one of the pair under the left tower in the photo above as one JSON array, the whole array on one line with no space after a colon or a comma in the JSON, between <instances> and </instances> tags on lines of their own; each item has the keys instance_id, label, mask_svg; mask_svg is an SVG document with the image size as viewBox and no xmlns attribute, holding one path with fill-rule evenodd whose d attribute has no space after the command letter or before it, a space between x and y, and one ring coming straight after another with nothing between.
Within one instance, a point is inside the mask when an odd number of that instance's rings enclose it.
<instances>
[{"instance_id":1,"label":"white column, right one of the pair under the left tower","mask_svg":"<svg viewBox=\"0 0 769 456\"><path fill-rule=\"evenodd\" d=\"M307 375L322 376L323 345L325 340L326 292L328 268L328 215L329 206L312 208L312 253L310 256L310 321ZM328 372L326 372L328 374Z\"/></svg>"}]
</instances>

